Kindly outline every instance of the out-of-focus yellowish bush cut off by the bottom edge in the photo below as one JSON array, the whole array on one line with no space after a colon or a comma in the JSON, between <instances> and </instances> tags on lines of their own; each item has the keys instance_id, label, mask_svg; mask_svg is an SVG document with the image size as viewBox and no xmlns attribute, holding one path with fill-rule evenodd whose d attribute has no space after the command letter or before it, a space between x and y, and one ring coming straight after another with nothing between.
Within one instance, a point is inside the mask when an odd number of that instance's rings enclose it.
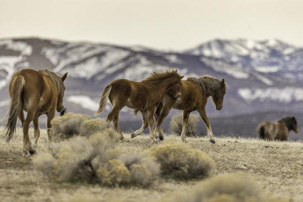
<instances>
[{"instance_id":1,"label":"out-of-focus yellowish bush cut off by the bottom edge","mask_svg":"<svg viewBox=\"0 0 303 202\"><path fill-rule=\"evenodd\" d=\"M222 175L204 180L191 191L176 194L161 202L290 202L267 196L250 178L239 175Z\"/></svg>"}]
</instances>

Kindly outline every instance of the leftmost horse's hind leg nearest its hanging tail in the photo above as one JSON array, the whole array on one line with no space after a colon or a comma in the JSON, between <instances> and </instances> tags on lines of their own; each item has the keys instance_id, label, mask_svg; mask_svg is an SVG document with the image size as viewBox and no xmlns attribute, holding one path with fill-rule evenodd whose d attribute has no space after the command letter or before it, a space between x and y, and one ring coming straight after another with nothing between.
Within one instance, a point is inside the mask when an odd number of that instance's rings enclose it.
<instances>
[{"instance_id":1,"label":"leftmost horse's hind leg nearest its hanging tail","mask_svg":"<svg viewBox=\"0 0 303 202\"><path fill-rule=\"evenodd\" d=\"M25 156L30 156L30 153L34 153L35 150L32 147L32 142L28 136L28 129L31 121L34 119L35 112L29 110L27 112L26 119L23 122L23 152Z\"/></svg>"}]
</instances>

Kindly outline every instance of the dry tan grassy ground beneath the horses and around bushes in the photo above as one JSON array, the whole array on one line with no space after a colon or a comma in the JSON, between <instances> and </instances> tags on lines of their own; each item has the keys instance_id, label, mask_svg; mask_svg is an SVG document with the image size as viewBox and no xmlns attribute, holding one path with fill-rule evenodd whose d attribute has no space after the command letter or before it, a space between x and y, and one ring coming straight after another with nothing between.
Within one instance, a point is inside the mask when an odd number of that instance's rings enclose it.
<instances>
[{"instance_id":1,"label":"dry tan grassy ground beneath the horses and around bushes","mask_svg":"<svg viewBox=\"0 0 303 202\"><path fill-rule=\"evenodd\" d=\"M83 183L60 183L45 178L33 167L32 160L22 156L23 135L10 143L3 139L0 127L0 202L61 202L61 201L125 201L152 202L176 192L186 193L199 181L163 179L149 188L108 188ZM33 129L30 129L33 138ZM119 144L123 148L147 150L152 141L147 135L130 138ZM165 136L167 141L180 141L180 137ZM285 196L295 202L303 201L303 143L266 142L256 139L216 138L211 144L207 138L187 138L191 147L202 150L214 159L214 175L239 173L253 177L264 193ZM33 141L33 139L32 139ZM162 144L163 142L159 143ZM54 143L55 144L55 143ZM38 150L47 152L46 130L41 130Z\"/></svg>"}]
</instances>

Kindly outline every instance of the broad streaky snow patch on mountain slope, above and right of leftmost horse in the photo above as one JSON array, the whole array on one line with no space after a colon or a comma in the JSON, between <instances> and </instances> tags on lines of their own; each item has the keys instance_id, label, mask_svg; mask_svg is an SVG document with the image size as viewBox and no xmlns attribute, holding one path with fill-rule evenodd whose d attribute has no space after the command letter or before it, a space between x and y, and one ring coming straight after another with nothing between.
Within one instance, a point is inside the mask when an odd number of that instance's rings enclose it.
<instances>
[{"instance_id":1,"label":"broad streaky snow patch on mountain slope, above and right of leftmost horse","mask_svg":"<svg viewBox=\"0 0 303 202\"><path fill-rule=\"evenodd\" d=\"M42 54L56 66L53 71L62 73L72 69L70 75L73 77L90 79L112 63L121 62L130 51L107 45L73 43L60 48L44 48Z\"/></svg>"}]
</instances>

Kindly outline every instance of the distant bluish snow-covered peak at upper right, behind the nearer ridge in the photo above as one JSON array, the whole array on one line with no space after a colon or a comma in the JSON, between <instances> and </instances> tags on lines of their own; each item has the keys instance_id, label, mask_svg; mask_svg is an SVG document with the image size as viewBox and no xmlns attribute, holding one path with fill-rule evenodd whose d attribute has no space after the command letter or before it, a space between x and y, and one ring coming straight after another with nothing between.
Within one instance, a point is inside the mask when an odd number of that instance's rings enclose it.
<instances>
[{"instance_id":1,"label":"distant bluish snow-covered peak at upper right, behind the nearer ridge","mask_svg":"<svg viewBox=\"0 0 303 202\"><path fill-rule=\"evenodd\" d=\"M303 81L303 49L277 39L213 40L185 52L282 76L293 82Z\"/></svg>"}]
</instances>

